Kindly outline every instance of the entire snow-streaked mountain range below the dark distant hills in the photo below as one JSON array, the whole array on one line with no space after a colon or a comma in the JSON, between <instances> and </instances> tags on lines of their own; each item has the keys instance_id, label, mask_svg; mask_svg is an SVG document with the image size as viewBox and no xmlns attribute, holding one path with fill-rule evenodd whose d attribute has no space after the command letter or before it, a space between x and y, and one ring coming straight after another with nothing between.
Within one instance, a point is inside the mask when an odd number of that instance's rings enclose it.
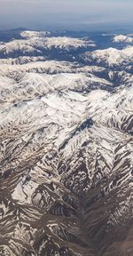
<instances>
[{"instance_id":1,"label":"entire snow-streaked mountain range below the dark distant hills","mask_svg":"<svg viewBox=\"0 0 133 256\"><path fill-rule=\"evenodd\" d=\"M0 44L0 255L132 256L133 48L20 36Z\"/></svg>"}]
</instances>

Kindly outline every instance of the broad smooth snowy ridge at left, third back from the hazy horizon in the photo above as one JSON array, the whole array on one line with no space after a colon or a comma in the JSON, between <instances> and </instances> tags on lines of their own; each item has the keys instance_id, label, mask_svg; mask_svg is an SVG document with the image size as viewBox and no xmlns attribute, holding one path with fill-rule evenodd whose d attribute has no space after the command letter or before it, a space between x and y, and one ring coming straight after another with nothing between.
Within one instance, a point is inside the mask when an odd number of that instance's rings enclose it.
<instances>
[{"instance_id":1,"label":"broad smooth snowy ridge at left, third back from the hazy horizon","mask_svg":"<svg viewBox=\"0 0 133 256\"><path fill-rule=\"evenodd\" d=\"M6 76L0 76L0 100L6 104L18 102L18 100L29 100L50 92L90 92L97 88L112 88L113 84L106 79L99 78L92 74L70 74L61 73L58 75L47 75L37 73L24 73L20 78L17 76L17 83ZM13 85L12 85L13 84ZM25 95L23 98L22 95ZM15 100L16 98L16 100Z\"/></svg>"}]
</instances>

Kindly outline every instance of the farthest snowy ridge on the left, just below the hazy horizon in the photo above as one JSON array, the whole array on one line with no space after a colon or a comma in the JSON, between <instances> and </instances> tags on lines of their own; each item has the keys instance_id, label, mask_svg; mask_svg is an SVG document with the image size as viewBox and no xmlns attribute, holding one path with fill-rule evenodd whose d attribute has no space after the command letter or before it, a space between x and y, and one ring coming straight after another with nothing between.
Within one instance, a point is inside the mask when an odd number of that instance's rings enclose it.
<instances>
[{"instance_id":1,"label":"farthest snowy ridge on the left, just below the hazy horizon","mask_svg":"<svg viewBox=\"0 0 133 256\"><path fill-rule=\"evenodd\" d=\"M9 43L0 44L0 55L13 56L13 54L40 54L44 50L76 50L79 48L93 47L94 42L83 38L73 38L68 36L51 36L47 32L23 31L20 34L23 39L12 40Z\"/></svg>"}]
</instances>

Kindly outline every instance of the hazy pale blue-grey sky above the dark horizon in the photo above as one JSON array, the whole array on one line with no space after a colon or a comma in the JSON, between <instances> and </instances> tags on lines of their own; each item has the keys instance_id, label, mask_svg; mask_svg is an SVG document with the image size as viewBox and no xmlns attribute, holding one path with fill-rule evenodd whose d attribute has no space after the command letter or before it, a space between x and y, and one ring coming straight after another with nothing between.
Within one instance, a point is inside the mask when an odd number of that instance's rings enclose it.
<instances>
[{"instance_id":1,"label":"hazy pale blue-grey sky above the dark horizon","mask_svg":"<svg viewBox=\"0 0 133 256\"><path fill-rule=\"evenodd\" d=\"M98 29L133 24L133 0L0 0L0 29Z\"/></svg>"}]
</instances>

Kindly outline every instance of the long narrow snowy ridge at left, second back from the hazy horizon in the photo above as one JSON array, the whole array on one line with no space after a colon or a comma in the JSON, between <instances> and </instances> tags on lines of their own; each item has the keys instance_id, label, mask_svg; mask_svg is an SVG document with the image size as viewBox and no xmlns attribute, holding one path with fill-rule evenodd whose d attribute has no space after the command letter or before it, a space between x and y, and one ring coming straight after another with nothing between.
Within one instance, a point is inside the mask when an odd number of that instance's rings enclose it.
<instances>
[{"instance_id":1,"label":"long narrow snowy ridge at left, second back from the hazy horizon","mask_svg":"<svg viewBox=\"0 0 133 256\"><path fill-rule=\"evenodd\" d=\"M35 61L37 60L37 61ZM39 61L43 60L43 61ZM24 64L23 64L24 62ZM21 64L20 64L21 63ZM13 65L12 65L13 64ZM18 59L1 59L0 74L8 77L19 77L23 73L59 74L59 73L85 73L96 74L105 72L105 68L97 66L83 66L77 62L44 60L42 57L20 57ZM18 79L18 78L17 78Z\"/></svg>"}]
</instances>

